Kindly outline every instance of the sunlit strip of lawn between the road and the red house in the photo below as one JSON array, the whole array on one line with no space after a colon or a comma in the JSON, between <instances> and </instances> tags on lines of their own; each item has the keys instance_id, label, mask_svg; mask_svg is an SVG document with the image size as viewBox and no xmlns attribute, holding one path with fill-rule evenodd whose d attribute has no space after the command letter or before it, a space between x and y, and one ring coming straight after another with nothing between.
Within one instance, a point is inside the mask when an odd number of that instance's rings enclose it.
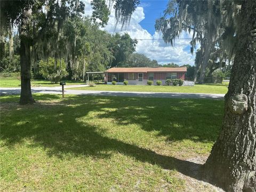
<instances>
[{"instance_id":1,"label":"sunlit strip of lawn between the road and the red house","mask_svg":"<svg viewBox=\"0 0 256 192\"><path fill-rule=\"evenodd\" d=\"M205 84L195 86L156 86L156 85L96 85L94 87L73 87L74 90L97 91L138 91L138 92L173 92L173 93L222 93L228 91L226 84Z\"/></svg>"}]
</instances>

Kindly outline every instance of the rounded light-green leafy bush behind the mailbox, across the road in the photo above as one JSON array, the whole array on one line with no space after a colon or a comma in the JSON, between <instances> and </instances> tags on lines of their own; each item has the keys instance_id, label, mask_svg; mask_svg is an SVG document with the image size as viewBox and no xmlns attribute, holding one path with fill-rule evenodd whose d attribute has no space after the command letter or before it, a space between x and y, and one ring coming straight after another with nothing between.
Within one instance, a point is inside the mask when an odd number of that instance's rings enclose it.
<instances>
[{"instance_id":1,"label":"rounded light-green leafy bush behind the mailbox, across the road","mask_svg":"<svg viewBox=\"0 0 256 192\"><path fill-rule=\"evenodd\" d=\"M39 61L39 73L52 83L58 83L62 77L67 76L66 63L63 59L49 58L47 61Z\"/></svg>"}]
</instances>

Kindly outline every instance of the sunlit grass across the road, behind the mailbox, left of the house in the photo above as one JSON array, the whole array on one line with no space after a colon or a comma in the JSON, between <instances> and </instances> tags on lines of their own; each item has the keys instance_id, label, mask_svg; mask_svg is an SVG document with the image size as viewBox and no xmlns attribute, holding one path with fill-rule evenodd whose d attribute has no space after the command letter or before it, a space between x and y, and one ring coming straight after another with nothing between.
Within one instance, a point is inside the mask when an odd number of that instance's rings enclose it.
<instances>
[{"instance_id":1,"label":"sunlit grass across the road, behind the mailbox, left of the house","mask_svg":"<svg viewBox=\"0 0 256 192\"><path fill-rule=\"evenodd\" d=\"M65 81L67 85L84 84L82 81ZM31 86L59 86L46 80L32 80ZM0 77L0 87L20 87L20 80L11 77Z\"/></svg>"}]
</instances>

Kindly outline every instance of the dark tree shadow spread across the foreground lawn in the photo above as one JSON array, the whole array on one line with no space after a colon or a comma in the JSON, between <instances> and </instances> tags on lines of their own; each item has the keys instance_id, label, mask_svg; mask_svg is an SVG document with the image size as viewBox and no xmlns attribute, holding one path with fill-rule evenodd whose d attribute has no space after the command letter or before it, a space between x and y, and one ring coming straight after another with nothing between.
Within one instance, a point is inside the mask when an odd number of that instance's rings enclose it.
<instances>
[{"instance_id":1,"label":"dark tree shadow spread across the foreground lawn","mask_svg":"<svg viewBox=\"0 0 256 192\"><path fill-rule=\"evenodd\" d=\"M45 97L56 99L56 96L51 95L41 95L36 99ZM201 167L199 164L108 138L104 130L78 119L93 111L102 112L95 115L97 119L105 121L113 118L119 125L138 124L145 131L158 130L159 135L166 136L168 140L209 142L215 141L218 135L218 129L210 124L214 124L222 115L219 109L221 105L222 101L212 100L70 96L54 105L37 103L4 114L1 120L1 139L4 145L12 147L29 138L34 141L31 147L43 146L49 156L59 158L67 153L108 158L111 153L118 152L199 179L199 175L193 171ZM196 125L195 121L203 126ZM206 125L210 129L206 129Z\"/></svg>"}]
</instances>

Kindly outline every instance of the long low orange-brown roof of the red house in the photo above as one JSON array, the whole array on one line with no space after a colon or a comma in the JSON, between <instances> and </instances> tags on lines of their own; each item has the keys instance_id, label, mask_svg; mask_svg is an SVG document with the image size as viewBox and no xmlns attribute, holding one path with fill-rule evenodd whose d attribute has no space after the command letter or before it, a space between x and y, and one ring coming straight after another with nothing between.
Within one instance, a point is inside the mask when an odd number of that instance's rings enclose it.
<instances>
[{"instance_id":1,"label":"long low orange-brown roof of the red house","mask_svg":"<svg viewBox=\"0 0 256 192\"><path fill-rule=\"evenodd\" d=\"M187 67L113 67L105 73L186 72Z\"/></svg>"}]
</instances>

